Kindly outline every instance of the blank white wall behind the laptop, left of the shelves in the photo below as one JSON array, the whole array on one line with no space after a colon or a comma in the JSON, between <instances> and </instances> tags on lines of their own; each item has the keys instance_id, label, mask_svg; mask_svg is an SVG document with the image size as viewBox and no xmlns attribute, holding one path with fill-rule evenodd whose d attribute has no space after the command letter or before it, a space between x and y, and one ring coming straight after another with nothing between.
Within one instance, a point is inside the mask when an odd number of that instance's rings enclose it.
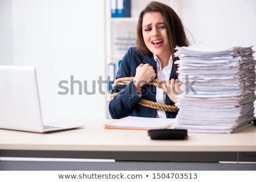
<instances>
[{"instance_id":1,"label":"blank white wall behind the laptop, left of the shelves","mask_svg":"<svg viewBox=\"0 0 256 182\"><path fill-rule=\"evenodd\" d=\"M63 91L58 83L70 82L71 75L88 81L88 87L104 75L104 1L88 2L0 0L1 39L9 36L0 43L0 55L11 43L0 64L36 67L44 118L105 117L105 96L98 88L94 95L79 95L78 86L74 95L57 94Z\"/></svg>"}]
</instances>

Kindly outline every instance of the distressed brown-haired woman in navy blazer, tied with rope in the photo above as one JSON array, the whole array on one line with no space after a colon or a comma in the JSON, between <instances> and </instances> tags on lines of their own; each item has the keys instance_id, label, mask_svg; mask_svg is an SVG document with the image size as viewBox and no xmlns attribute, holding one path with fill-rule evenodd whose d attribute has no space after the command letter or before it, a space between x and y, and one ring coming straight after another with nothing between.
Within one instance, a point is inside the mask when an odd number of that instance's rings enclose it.
<instances>
[{"instance_id":1,"label":"distressed brown-haired woman in navy blazer, tied with rope","mask_svg":"<svg viewBox=\"0 0 256 182\"><path fill-rule=\"evenodd\" d=\"M139 105L141 98L174 105L179 93L174 48L188 46L183 24L171 7L150 2L139 15L137 47L130 48L122 59L117 78L134 77L127 86L116 86L112 93L119 95L110 101L112 118L126 116L172 117L177 112L164 112ZM154 78L166 81L163 89L147 83Z\"/></svg>"}]
</instances>

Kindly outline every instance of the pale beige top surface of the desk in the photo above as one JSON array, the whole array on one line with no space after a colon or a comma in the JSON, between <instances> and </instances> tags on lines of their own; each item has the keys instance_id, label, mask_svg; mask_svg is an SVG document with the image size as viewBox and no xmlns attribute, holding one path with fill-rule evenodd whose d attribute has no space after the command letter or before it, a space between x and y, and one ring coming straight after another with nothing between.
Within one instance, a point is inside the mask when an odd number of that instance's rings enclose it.
<instances>
[{"instance_id":1,"label":"pale beige top surface of the desk","mask_svg":"<svg viewBox=\"0 0 256 182\"><path fill-rule=\"evenodd\" d=\"M104 129L104 119L69 120L84 128L55 133L0 129L0 150L62 151L256 151L256 126L233 134L188 133L186 140L155 141L146 130Z\"/></svg>"}]
</instances>

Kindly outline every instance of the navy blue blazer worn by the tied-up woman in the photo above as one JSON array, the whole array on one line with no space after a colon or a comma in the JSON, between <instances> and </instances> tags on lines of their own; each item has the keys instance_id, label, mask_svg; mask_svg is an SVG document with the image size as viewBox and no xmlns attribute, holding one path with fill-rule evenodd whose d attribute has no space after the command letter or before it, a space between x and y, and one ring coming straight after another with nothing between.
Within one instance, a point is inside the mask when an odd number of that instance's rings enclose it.
<instances>
[{"instance_id":1,"label":"navy blue blazer worn by the tied-up woman","mask_svg":"<svg viewBox=\"0 0 256 182\"><path fill-rule=\"evenodd\" d=\"M156 62L154 60L153 54L147 56L146 54L138 54L137 48L129 48L127 53L122 59L121 66L117 71L117 78L121 77L134 77L136 68L140 64L150 64L154 67L156 73ZM172 66L172 71L170 79L177 79L176 71L174 66ZM142 87L142 97L146 100L156 101L156 87L146 84ZM126 116L141 116L141 117L155 117L156 109L151 109L148 107L143 107L138 104L138 101L141 99L136 94L135 87L133 82L130 82L127 86L116 86L113 88L112 93L120 92L119 95L109 103L109 113L112 118L122 118ZM166 96L166 104L174 105L174 102ZM166 117L174 118L176 117L177 112L166 112Z\"/></svg>"}]
</instances>

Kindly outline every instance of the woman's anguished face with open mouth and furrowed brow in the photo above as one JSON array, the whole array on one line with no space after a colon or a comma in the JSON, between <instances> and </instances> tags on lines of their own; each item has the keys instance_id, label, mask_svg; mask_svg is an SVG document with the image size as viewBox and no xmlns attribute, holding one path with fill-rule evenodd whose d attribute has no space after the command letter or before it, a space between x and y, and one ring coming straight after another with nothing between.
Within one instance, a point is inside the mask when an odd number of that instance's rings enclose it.
<instances>
[{"instance_id":1,"label":"woman's anguished face with open mouth and furrowed brow","mask_svg":"<svg viewBox=\"0 0 256 182\"><path fill-rule=\"evenodd\" d=\"M142 35L147 48L157 56L171 56L171 49L160 12L147 12L142 18Z\"/></svg>"}]
</instances>

